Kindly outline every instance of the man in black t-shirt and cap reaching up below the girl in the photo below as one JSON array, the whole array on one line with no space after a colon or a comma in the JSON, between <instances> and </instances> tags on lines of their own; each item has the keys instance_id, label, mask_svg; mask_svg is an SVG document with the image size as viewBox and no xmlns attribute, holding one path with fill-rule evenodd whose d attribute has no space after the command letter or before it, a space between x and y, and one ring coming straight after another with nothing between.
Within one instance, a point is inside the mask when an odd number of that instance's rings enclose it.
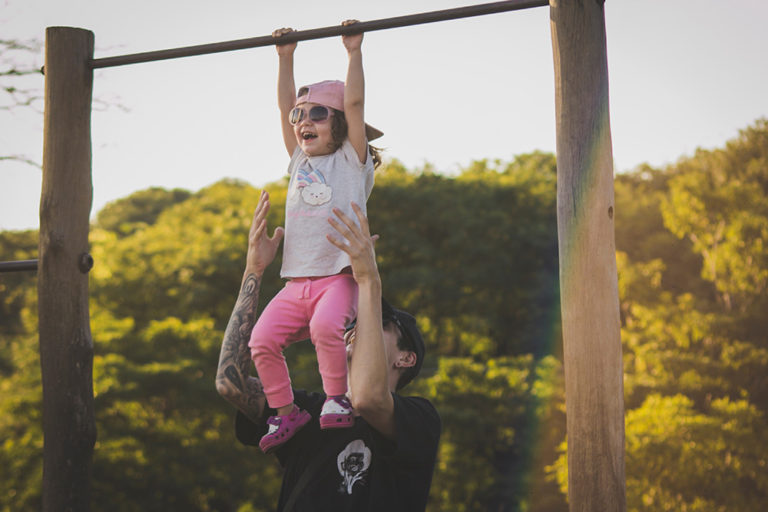
<instances>
[{"instance_id":1,"label":"man in black t-shirt and cap reaching up below the girl","mask_svg":"<svg viewBox=\"0 0 768 512\"><path fill-rule=\"evenodd\" d=\"M283 236L267 235L269 196L262 192L248 235L246 268L221 347L216 389L238 409L237 438L258 445L267 431L261 385L249 375L248 341L256 321L259 285ZM341 238L328 237L350 256L357 282L358 315L347 333L348 398L352 428L321 430L325 395L294 390L312 421L275 450L285 473L278 511L423 511L431 484L440 418L432 404L394 391L410 382L424 358L424 342L408 313L381 297L381 279L368 221L353 203L359 225L338 210L329 219Z\"/></svg>"}]
</instances>

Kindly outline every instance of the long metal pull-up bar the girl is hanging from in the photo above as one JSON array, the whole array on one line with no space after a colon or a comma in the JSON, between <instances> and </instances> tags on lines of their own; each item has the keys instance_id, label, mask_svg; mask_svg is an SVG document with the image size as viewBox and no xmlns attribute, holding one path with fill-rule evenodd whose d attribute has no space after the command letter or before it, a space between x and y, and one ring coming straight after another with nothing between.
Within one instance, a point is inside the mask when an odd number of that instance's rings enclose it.
<instances>
[{"instance_id":1,"label":"long metal pull-up bar the girl is hanging from","mask_svg":"<svg viewBox=\"0 0 768 512\"><path fill-rule=\"evenodd\" d=\"M248 39L236 39L234 41L225 41L221 43L201 44L196 46L185 46L182 48L171 48L168 50L156 50L152 52L133 53L130 55L104 57L101 59L93 59L91 61L91 67L94 69L106 68L113 66L123 66L126 64L138 64L140 62L177 59L180 57L192 57L194 55L207 55L211 53L228 52L232 50L244 50L246 48L272 46L277 41L280 41L281 43L309 41L312 39L322 39L326 37L339 36L342 34L373 32L375 30L385 30L389 28L434 23L437 21L470 18L473 16L483 16L486 14L517 11L531 7L544 7L546 5L549 5L549 0L507 0L505 2L470 5L466 7L456 7L454 9L445 9L442 11L430 11L420 14L398 16L395 18L382 18L373 21L363 21L346 27L342 25L334 25L332 27L299 30L281 36L279 39L269 35L252 37Z\"/></svg>"}]
</instances>

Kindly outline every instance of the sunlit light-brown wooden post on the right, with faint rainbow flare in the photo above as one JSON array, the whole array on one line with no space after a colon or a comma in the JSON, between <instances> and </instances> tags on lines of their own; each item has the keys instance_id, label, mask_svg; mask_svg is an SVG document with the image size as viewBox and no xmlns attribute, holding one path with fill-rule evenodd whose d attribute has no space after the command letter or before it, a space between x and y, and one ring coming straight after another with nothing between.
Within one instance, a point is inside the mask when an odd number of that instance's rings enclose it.
<instances>
[{"instance_id":1,"label":"sunlit light-brown wooden post on the right, with faint rainbow flare","mask_svg":"<svg viewBox=\"0 0 768 512\"><path fill-rule=\"evenodd\" d=\"M604 0L550 0L571 511L626 510Z\"/></svg>"}]
</instances>

